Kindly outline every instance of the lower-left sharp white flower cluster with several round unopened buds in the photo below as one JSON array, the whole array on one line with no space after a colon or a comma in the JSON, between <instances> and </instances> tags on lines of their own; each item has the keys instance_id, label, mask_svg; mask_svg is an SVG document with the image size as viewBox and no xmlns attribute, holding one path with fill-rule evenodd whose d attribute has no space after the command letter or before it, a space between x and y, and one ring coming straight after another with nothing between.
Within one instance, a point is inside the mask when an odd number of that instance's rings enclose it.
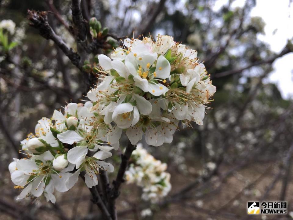
<instances>
[{"instance_id":1,"label":"lower-left sharp white flower cluster with several round unopened buds","mask_svg":"<svg viewBox=\"0 0 293 220\"><path fill-rule=\"evenodd\" d=\"M90 107L91 102L69 103L64 114L55 110L51 119L38 120L35 134L28 134L21 141L20 152L27 157L9 164L14 188L23 189L18 200L34 199L44 193L47 201L55 203L54 189L59 192L71 189L82 171L89 188L98 184L100 170L114 171L113 165L103 160L112 156L109 150L119 147L118 139L115 142L111 132L109 135L98 132L93 121L98 123L100 119L90 112ZM113 145L108 144L109 140ZM87 156L88 150L96 153ZM77 170L71 173L74 167Z\"/></svg>"}]
</instances>

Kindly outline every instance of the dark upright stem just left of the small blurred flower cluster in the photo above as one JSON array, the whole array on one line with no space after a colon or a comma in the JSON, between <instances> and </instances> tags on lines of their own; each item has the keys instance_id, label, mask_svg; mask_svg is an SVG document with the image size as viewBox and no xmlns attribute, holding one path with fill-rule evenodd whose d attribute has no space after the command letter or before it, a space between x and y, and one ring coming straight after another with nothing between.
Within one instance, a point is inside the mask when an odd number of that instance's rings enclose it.
<instances>
[{"instance_id":1,"label":"dark upright stem just left of the small blurred flower cluster","mask_svg":"<svg viewBox=\"0 0 293 220\"><path fill-rule=\"evenodd\" d=\"M117 174L116 180L113 181L113 187L109 193L109 208L110 208L110 213L113 220L117 219L115 200L118 198L120 194L119 189L121 184L125 182L124 174L128 166L128 160L135 149L136 149L136 145L132 145L129 141L125 149L125 153L121 154L121 164L118 170L118 174Z\"/></svg>"}]
</instances>

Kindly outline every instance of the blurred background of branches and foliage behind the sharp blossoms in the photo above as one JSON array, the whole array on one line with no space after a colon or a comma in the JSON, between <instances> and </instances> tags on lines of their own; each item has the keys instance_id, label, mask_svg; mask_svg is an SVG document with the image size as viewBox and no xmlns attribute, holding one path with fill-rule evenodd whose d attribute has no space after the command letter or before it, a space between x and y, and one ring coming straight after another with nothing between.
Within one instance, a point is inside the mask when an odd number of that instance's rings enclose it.
<instances>
[{"instance_id":1,"label":"blurred background of branches and foliage behind the sharp blossoms","mask_svg":"<svg viewBox=\"0 0 293 220\"><path fill-rule=\"evenodd\" d=\"M157 159L168 163L172 176L170 196L160 204L141 206L137 203L139 190L131 193L124 186L118 206L121 216L245 219L246 201L253 199L287 200L288 211L293 210L293 197L288 189L293 187L289 178L292 100L284 100L275 84L263 83L273 71L273 62L291 53L293 45L288 40L280 53L274 53L259 40L265 23L261 17L250 16L255 0L245 1L243 7L231 7L234 1L229 0L217 11L213 9L215 2L81 0L84 19L96 17L103 27L109 28L108 38L118 39L116 44L126 36L150 33L155 38L160 33L174 36L175 41L197 50L217 86L203 126L182 128L172 144L159 148L143 143ZM15 33L9 34L8 39L17 45L6 51L2 44L0 49L0 190L12 205L19 192L11 187L7 166L12 157L17 157L19 141L34 131L41 117L50 117L54 109L60 109L66 102L86 99L85 92L95 82L89 78L95 73L76 68L52 40L40 36L26 19L27 9L49 11L48 21L53 30L76 51L76 37L70 28L71 1L0 0L0 7L0 20L12 19L16 23ZM89 54L85 64L97 65L94 56L108 52L109 49L99 49ZM120 160L118 154L114 158ZM258 185L255 181L262 174L265 176ZM67 201L69 208L67 204L61 211L48 204L40 204L40 210L29 206L30 213L36 214L29 217L38 218L42 211L52 208L54 212L48 214L48 219L54 215L60 219L94 218L97 210L88 201L79 201L80 207L88 206L88 211L76 211L72 208L76 202L72 205L73 201L69 201L71 196L60 199ZM8 210L3 201L2 211ZM230 205L239 209L226 210ZM153 215L141 216L145 207L150 207ZM19 216L28 212L21 206L11 209ZM0 214L3 219L7 216L15 217L4 211Z\"/></svg>"}]
</instances>

